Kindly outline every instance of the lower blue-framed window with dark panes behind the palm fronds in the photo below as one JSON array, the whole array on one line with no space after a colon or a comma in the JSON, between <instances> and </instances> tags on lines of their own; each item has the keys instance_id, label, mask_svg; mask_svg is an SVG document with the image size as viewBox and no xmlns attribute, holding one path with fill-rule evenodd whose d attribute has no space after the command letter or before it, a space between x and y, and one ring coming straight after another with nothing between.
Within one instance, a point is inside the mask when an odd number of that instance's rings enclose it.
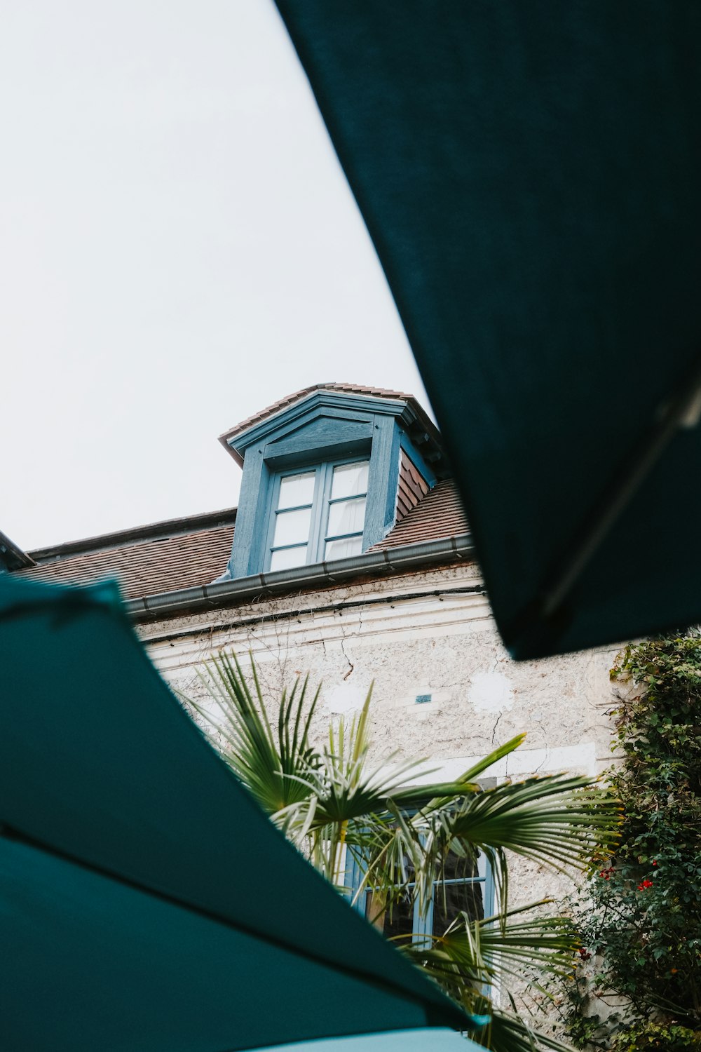
<instances>
[{"instance_id":1,"label":"lower blue-framed window with dark panes behind the palm fronds","mask_svg":"<svg viewBox=\"0 0 701 1052\"><path fill-rule=\"evenodd\" d=\"M409 864L408 864L409 865ZM473 919L483 919L494 913L494 879L483 854L475 863L450 853L446 859L444 878L434 882L428 910L421 914L417 902L399 902L385 910L376 902L372 887L358 894L365 869L348 852L346 882L354 909L362 913L387 937L413 935L415 945L431 945L432 935L442 935L460 912ZM371 883L371 882L370 882Z\"/></svg>"}]
</instances>

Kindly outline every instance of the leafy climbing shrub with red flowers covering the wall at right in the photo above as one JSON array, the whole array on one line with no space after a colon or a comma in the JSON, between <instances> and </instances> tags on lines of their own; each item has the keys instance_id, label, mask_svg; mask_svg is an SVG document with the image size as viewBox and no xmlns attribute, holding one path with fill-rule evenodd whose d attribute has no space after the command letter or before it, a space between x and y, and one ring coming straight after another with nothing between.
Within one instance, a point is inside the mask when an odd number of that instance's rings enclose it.
<instances>
[{"instance_id":1,"label":"leafy climbing shrub with red flowers covering the wall at right","mask_svg":"<svg viewBox=\"0 0 701 1052\"><path fill-rule=\"evenodd\" d=\"M589 977L580 968L577 982L569 985L570 1034L582 1045L596 1038L595 1020L585 1017L587 997L614 990L630 999L631 1009L627 1019L613 1019L614 1027L617 1021L622 1027L614 1044L601 1038L598 1047L616 1052L697 1048L701 638L631 645L612 669L612 680L620 688L613 745L623 758L609 782L624 818L615 854L594 857L587 886L573 904L584 953L599 954L603 963ZM645 1021L651 1018L669 1026ZM631 1030L632 1019L642 1029Z\"/></svg>"}]
</instances>

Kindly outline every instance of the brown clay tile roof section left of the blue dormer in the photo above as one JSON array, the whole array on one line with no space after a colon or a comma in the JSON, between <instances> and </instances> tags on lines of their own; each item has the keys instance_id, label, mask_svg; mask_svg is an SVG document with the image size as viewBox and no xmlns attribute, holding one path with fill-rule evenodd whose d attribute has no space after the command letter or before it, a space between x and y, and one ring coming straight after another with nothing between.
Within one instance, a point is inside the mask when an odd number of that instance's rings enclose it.
<instances>
[{"instance_id":1,"label":"brown clay tile roof section left of the blue dormer","mask_svg":"<svg viewBox=\"0 0 701 1052\"><path fill-rule=\"evenodd\" d=\"M189 531L183 530L181 525L170 535L167 535L167 527L172 525L169 523L144 528L144 532L152 534L160 525L164 527L160 535L135 539L135 531L125 531L121 544L119 534L115 534L114 543L107 546L101 545L102 539L97 538L84 542L91 547L87 551L73 550L64 554L66 549L78 546L71 544L54 549L56 554L49 549L33 552L38 565L18 570L17 575L54 584L90 584L117 578L126 599L210 584L224 572L229 561L234 514L235 509L199 517L206 527L198 524L194 518ZM212 525L211 520L218 517L224 521Z\"/></svg>"}]
</instances>

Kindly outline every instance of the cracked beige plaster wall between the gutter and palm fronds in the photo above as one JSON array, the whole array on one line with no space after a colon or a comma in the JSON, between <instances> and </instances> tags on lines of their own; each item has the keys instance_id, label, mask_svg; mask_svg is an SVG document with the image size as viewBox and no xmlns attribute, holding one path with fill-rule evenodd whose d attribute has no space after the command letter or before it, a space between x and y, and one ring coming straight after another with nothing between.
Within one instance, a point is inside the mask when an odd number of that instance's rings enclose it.
<instances>
[{"instance_id":1,"label":"cracked beige plaster wall between the gutter and palm fronds","mask_svg":"<svg viewBox=\"0 0 701 1052\"><path fill-rule=\"evenodd\" d=\"M297 674L323 684L316 729L357 710L374 681L375 753L458 761L528 733L497 774L610 761L616 647L511 661L474 565L249 603L141 628L165 679L201 695L195 669L222 648L255 655L271 697ZM424 704L417 696L431 695ZM447 769L454 770L455 764Z\"/></svg>"}]
</instances>

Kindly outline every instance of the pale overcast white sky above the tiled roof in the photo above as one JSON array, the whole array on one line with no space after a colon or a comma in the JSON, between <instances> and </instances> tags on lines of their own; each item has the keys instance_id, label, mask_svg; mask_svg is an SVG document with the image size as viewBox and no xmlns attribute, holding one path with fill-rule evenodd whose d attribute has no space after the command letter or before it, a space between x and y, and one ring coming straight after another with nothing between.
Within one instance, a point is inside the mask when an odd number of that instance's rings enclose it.
<instances>
[{"instance_id":1,"label":"pale overcast white sky above the tiled roof","mask_svg":"<svg viewBox=\"0 0 701 1052\"><path fill-rule=\"evenodd\" d=\"M229 507L217 442L309 383L428 407L270 0L22 0L0 36L0 529Z\"/></svg>"}]
</instances>

